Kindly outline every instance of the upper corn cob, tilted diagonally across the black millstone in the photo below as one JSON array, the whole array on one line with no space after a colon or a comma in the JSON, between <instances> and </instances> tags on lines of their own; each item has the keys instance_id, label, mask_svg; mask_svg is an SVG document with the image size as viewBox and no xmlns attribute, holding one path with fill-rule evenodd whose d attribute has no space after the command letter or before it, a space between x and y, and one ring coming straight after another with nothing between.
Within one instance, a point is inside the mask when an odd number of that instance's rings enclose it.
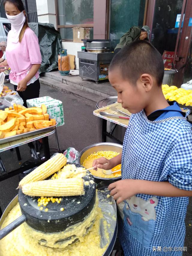
<instances>
[{"instance_id":1,"label":"upper corn cob, tilted diagonally across the black millstone","mask_svg":"<svg viewBox=\"0 0 192 256\"><path fill-rule=\"evenodd\" d=\"M67 158L63 154L57 154L50 158L45 163L38 166L35 170L25 176L19 182L19 188L22 188L24 184L44 180L53 173L57 172L67 163Z\"/></svg>"}]
</instances>

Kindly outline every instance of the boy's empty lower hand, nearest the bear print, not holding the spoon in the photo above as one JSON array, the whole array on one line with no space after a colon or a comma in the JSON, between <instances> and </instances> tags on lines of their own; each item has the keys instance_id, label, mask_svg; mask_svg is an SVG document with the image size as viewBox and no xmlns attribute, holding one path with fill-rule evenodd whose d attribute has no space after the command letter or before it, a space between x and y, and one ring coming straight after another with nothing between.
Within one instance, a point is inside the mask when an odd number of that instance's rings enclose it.
<instances>
[{"instance_id":1,"label":"boy's empty lower hand, nearest the bear print, not holding the spoon","mask_svg":"<svg viewBox=\"0 0 192 256\"><path fill-rule=\"evenodd\" d=\"M122 179L113 182L108 187L111 191L110 195L117 200L117 203L121 203L123 200L138 194L136 182L135 179Z\"/></svg>"}]
</instances>

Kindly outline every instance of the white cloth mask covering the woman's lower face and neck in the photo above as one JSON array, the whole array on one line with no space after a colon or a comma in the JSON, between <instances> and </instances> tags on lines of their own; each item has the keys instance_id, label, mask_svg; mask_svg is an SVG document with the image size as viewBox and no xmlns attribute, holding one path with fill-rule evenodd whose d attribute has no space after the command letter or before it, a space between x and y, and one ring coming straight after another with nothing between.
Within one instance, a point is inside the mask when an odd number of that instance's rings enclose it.
<instances>
[{"instance_id":1,"label":"white cloth mask covering the woman's lower face and neck","mask_svg":"<svg viewBox=\"0 0 192 256\"><path fill-rule=\"evenodd\" d=\"M7 19L11 23L11 30L8 33L8 38L12 43L17 43L19 41L19 34L25 22L25 16L23 11L15 16L7 15Z\"/></svg>"}]
</instances>

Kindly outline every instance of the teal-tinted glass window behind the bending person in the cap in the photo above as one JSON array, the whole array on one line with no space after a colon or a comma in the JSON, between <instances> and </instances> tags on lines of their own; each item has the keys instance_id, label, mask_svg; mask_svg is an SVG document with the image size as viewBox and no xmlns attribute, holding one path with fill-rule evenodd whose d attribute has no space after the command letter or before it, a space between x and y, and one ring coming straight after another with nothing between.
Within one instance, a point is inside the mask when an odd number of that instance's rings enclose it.
<instances>
[{"instance_id":1,"label":"teal-tinted glass window behind the bending person in the cap","mask_svg":"<svg viewBox=\"0 0 192 256\"><path fill-rule=\"evenodd\" d=\"M111 0L110 39L113 47L132 26L143 26L145 2L145 0Z\"/></svg>"}]
</instances>

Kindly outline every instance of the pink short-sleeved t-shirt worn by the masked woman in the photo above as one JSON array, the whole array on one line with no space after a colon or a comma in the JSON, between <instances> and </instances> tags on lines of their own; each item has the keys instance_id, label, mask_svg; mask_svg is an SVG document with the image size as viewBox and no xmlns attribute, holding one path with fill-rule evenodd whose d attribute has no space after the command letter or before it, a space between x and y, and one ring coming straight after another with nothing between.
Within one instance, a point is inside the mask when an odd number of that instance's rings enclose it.
<instances>
[{"instance_id":1,"label":"pink short-sleeved t-shirt worn by the masked woman","mask_svg":"<svg viewBox=\"0 0 192 256\"><path fill-rule=\"evenodd\" d=\"M38 38L35 33L27 28L21 43L12 43L7 36L6 57L11 69L9 79L19 83L29 73L32 64L41 64L41 52ZM39 77L39 72L35 74Z\"/></svg>"}]
</instances>

